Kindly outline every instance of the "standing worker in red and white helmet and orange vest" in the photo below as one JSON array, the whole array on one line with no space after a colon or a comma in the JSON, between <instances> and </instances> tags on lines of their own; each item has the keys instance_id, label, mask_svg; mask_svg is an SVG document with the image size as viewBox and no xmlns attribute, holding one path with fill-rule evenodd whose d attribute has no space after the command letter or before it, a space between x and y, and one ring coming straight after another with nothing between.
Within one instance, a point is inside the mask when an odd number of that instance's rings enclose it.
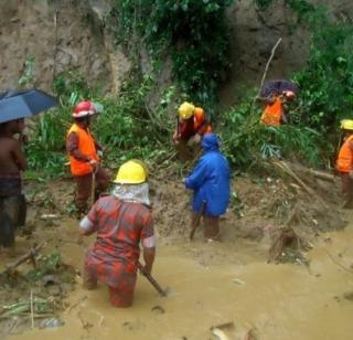
<instances>
[{"instance_id":1,"label":"standing worker in red and white helmet and orange vest","mask_svg":"<svg viewBox=\"0 0 353 340\"><path fill-rule=\"evenodd\" d=\"M81 102L74 108L74 124L66 138L66 150L69 157L71 172L76 181L75 204L78 214L87 212L87 201L92 191L96 196L104 191L109 182L109 176L100 167L97 151L101 147L95 141L89 131L90 117L97 113L89 100ZM95 188L93 188L95 185Z\"/></svg>"}]
</instances>

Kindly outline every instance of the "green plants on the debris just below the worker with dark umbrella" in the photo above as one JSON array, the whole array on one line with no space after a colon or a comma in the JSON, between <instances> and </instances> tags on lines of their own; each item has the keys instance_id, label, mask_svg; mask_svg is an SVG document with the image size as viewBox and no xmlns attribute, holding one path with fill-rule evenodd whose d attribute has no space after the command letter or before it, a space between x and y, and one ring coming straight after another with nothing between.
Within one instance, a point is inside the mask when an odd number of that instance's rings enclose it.
<instances>
[{"instance_id":1,"label":"green plants on the debris just below the worker with dark umbrella","mask_svg":"<svg viewBox=\"0 0 353 340\"><path fill-rule=\"evenodd\" d=\"M328 155L322 153L323 142L315 130L302 125L260 125L260 109L254 111L252 102L250 96L244 98L223 117L223 149L233 164L247 169L268 158L299 160L310 166L324 162ZM325 151L329 153L330 147Z\"/></svg>"}]
</instances>

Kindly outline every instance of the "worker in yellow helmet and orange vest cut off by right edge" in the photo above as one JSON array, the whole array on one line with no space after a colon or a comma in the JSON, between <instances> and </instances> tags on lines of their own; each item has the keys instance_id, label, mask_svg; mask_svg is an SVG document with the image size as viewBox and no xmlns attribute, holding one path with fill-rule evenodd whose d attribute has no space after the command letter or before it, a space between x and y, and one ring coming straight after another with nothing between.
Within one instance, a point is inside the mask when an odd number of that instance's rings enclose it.
<instances>
[{"instance_id":1,"label":"worker in yellow helmet and orange vest cut off by right edge","mask_svg":"<svg viewBox=\"0 0 353 340\"><path fill-rule=\"evenodd\" d=\"M335 169L341 176L343 208L353 208L353 120L341 121L343 145L340 148Z\"/></svg>"}]
</instances>

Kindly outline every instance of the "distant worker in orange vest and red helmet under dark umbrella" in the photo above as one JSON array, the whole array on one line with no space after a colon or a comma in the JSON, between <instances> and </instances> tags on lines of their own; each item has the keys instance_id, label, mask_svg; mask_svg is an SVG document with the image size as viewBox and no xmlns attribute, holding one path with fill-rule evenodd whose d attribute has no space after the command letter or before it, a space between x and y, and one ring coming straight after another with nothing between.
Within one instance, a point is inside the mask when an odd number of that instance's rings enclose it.
<instances>
[{"instance_id":1,"label":"distant worker in orange vest and red helmet under dark umbrella","mask_svg":"<svg viewBox=\"0 0 353 340\"><path fill-rule=\"evenodd\" d=\"M260 123L277 127L288 124L288 103L295 98L292 91L284 91L279 96L272 93L268 98L257 97L258 102L265 103Z\"/></svg>"}]
</instances>

